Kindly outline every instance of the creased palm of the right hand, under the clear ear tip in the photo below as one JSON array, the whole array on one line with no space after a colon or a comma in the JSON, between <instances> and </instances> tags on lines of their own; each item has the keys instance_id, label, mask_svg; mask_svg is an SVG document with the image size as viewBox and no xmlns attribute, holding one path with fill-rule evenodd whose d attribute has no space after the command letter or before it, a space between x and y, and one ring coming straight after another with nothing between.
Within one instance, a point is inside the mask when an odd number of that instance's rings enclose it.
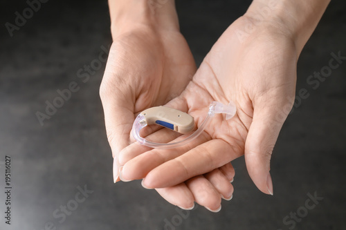
<instances>
[{"instance_id":1,"label":"creased palm of the right hand, under the clear ear tip","mask_svg":"<svg viewBox=\"0 0 346 230\"><path fill-rule=\"evenodd\" d=\"M239 42L234 31L242 23L242 20L236 21L219 38L183 95L187 99L190 114L197 118L199 124L203 122L210 102L236 102L235 117L230 121L221 115L215 117L206 128L206 133L211 139L230 144L238 154L244 153L255 106L257 110L268 109L260 97L272 101L274 98L285 101L286 98L281 95L291 97L295 88L296 65L292 44L273 47L275 41L261 41L260 34L253 35L255 42ZM274 81L273 75L276 76ZM275 103L278 105L280 101L275 100Z\"/></svg>"}]
</instances>

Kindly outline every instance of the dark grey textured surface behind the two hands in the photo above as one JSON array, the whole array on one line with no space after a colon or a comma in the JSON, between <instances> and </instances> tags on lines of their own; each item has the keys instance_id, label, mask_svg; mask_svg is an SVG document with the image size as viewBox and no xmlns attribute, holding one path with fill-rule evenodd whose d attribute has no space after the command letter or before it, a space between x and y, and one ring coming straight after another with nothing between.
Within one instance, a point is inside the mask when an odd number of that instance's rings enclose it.
<instances>
[{"instance_id":1,"label":"dark grey textured surface behind the two hands","mask_svg":"<svg viewBox=\"0 0 346 230\"><path fill-rule=\"evenodd\" d=\"M298 61L297 90L309 98L286 120L275 146L271 173L275 195L258 191L244 158L235 160L233 200L219 213L203 207L179 218L176 207L140 182L113 184L111 151L98 95L104 65L86 82L77 72L111 44L107 1L48 1L10 37L25 1L3 1L0 30L0 229L289 229L283 219L304 206L307 193L324 199L295 229L344 229L346 203L346 61L316 90L307 77L327 66L330 53L346 56L345 1L332 1ZM244 14L250 1L177 1L181 30L197 64L219 35ZM41 126L57 90L77 82L78 92ZM12 157L12 225L4 224L5 155ZM94 192L66 216L53 213L75 198L77 186ZM72 203L71 203L72 204ZM184 211L184 214L185 211ZM179 220L182 220L179 222ZM47 228L49 229L49 228ZM170 228L167 228L170 229Z\"/></svg>"}]
</instances>

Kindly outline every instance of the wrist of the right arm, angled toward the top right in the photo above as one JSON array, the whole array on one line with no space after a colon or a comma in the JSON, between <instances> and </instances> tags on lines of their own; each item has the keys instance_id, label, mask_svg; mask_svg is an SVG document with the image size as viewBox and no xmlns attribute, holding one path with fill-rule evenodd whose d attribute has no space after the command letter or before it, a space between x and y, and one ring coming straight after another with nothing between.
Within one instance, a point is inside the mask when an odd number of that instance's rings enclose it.
<instances>
[{"instance_id":1,"label":"wrist of the right arm, angled toward the top right","mask_svg":"<svg viewBox=\"0 0 346 230\"><path fill-rule=\"evenodd\" d=\"M330 0L254 0L244 15L258 28L289 37L300 54Z\"/></svg>"}]
</instances>

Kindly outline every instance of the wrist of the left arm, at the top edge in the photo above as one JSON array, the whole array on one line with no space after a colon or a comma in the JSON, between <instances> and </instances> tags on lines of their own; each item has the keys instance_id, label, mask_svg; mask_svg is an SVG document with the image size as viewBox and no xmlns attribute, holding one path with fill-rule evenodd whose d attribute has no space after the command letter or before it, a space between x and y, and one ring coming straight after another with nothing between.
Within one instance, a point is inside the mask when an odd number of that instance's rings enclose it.
<instances>
[{"instance_id":1,"label":"wrist of the left arm, at the top edge","mask_svg":"<svg viewBox=\"0 0 346 230\"><path fill-rule=\"evenodd\" d=\"M109 12L113 39L140 27L179 31L174 0L109 0Z\"/></svg>"}]
</instances>

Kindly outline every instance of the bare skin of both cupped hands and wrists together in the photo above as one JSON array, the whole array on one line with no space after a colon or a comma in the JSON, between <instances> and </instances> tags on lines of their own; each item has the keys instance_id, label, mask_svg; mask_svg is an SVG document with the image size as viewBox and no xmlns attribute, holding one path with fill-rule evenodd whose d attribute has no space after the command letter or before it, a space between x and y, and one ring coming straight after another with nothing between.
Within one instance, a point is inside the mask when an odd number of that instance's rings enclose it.
<instances>
[{"instance_id":1,"label":"bare skin of both cupped hands and wrists together","mask_svg":"<svg viewBox=\"0 0 346 230\"><path fill-rule=\"evenodd\" d=\"M329 1L280 1L275 6L253 1L246 15L221 35L196 73L172 10L174 2L154 16L150 9L143 10L146 5L141 12L132 12L131 2L109 1L110 9L115 4L130 13L124 19L111 10L116 26L100 88L114 178L122 166L123 181L145 178L145 188L156 189L174 205L190 209L197 202L219 211L221 198L228 200L233 193L230 161L245 155L257 188L273 195L271 153L293 106L297 60ZM258 21L266 6L271 12ZM160 17L159 23L152 23ZM173 150L129 144L131 125L140 111L167 103L192 115L199 126L212 101L233 101L237 114L228 121L216 115L197 140ZM176 138L156 128L145 135L156 142Z\"/></svg>"}]
</instances>

